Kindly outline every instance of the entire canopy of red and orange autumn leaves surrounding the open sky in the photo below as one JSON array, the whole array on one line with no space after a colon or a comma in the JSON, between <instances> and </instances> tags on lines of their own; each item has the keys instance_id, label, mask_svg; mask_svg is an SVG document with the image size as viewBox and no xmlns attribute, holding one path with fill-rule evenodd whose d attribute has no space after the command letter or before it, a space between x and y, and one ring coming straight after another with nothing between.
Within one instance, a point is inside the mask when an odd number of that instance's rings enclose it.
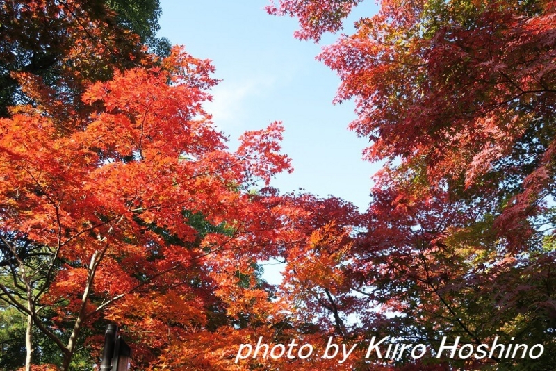
<instances>
[{"instance_id":1,"label":"entire canopy of red and orange autumn leaves surrounding the open sky","mask_svg":"<svg viewBox=\"0 0 556 371\"><path fill-rule=\"evenodd\" d=\"M359 2L267 10L318 41ZM137 370L556 363L554 1L382 1L322 50L336 101L357 104L364 157L384 162L366 211L270 188L292 170L281 123L231 151L203 108L218 83L210 61L149 53L114 26L119 2L20 3L1 5L0 312L22 342L0 349L22 357L6 368L92 370L108 323ZM48 17L57 31L42 34ZM42 47L21 42L31 32ZM261 278L269 259L285 263L279 286ZM234 362L261 336L433 348L498 337L544 352L378 359L356 346L341 365Z\"/></svg>"}]
</instances>

